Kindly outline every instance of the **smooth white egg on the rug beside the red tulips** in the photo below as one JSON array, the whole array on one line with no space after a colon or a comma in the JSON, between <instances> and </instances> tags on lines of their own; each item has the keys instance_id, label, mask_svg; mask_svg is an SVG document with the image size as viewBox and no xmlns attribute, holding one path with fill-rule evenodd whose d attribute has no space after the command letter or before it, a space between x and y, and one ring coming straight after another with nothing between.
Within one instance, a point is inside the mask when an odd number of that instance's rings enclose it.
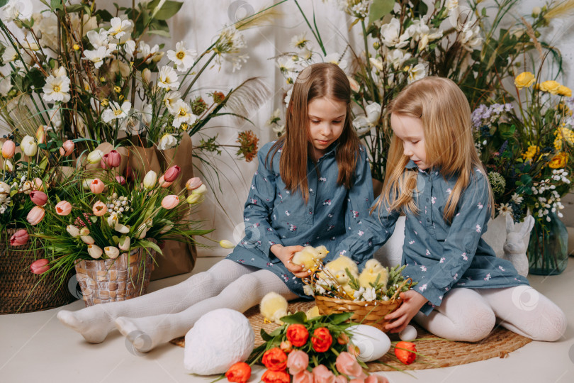
<instances>
[{"instance_id":1,"label":"smooth white egg on the rug beside the red tulips","mask_svg":"<svg viewBox=\"0 0 574 383\"><path fill-rule=\"evenodd\" d=\"M373 326L354 325L347 328L351 332L351 342L359 348L357 359L361 362L377 360L390 348L390 339L386 333Z\"/></svg>"}]
</instances>

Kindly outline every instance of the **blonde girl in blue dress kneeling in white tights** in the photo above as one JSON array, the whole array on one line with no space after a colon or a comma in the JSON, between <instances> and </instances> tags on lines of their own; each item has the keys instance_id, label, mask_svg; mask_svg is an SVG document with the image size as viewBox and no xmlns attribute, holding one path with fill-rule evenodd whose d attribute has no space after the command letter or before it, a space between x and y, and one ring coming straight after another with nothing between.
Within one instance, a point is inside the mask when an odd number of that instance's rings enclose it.
<instances>
[{"instance_id":1,"label":"blonde girl in blue dress kneeling in white tights","mask_svg":"<svg viewBox=\"0 0 574 383\"><path fill-rule=\"evenodd\" d=\"M388 112L394 135L383 191L364 222L368 229L337 251L366 260L405 214L403 274L417 285L386 316L392 320L387 330L402 331L415 318L454 340L481 340L497 323L534 340L560 338L563 311L481 238L493 192L461 89L449 79L427 77L401 91Z\"/></svg>"}]
</instances>

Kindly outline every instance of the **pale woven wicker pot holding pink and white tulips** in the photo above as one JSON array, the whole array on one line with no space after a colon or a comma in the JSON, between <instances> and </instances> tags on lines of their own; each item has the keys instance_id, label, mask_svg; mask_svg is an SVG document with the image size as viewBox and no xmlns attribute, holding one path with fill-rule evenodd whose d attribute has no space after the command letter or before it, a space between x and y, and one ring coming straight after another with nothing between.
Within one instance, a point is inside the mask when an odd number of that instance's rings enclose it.
<instances>
[{"instance_id":1,"label":"pale woven wicker pot holding pink and white tulips","mask_svg":"<svg viewBox=\"0 0 574 383\"><path fill-rule=\"evenodd\" d=\"M115 260L81 260L76 277L87 306L125 301L147 292L152 273L152 255L148 249L124 252Z\"/></svg>"}]
</instances>

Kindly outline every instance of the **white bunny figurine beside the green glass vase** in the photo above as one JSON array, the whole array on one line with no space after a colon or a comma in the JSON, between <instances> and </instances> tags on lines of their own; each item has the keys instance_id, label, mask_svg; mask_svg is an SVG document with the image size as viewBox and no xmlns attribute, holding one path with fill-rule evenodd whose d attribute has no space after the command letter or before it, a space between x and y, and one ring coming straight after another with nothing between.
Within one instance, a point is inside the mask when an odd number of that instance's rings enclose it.
<instances>
[{"instance_id":1,"label":"white bunny figurine beside the green glass vase","mask_svg":"<svg viewBox=\"0 0 574 383\"><path fill-rule=\"evenodd\" d=\"M527 216L524 218L524 223L518 231L514 231L515 225L512 216L508 214L506 216L506 241L502 245L504 254L500 257L503 260L509 260L512 265L516 268L518 274L522 277L527 277L528 275L528 258L526 255L527 245L529 238L525 238L530 235L530 231L534 226L534 217Z\"/></svg>"}]
</instances>

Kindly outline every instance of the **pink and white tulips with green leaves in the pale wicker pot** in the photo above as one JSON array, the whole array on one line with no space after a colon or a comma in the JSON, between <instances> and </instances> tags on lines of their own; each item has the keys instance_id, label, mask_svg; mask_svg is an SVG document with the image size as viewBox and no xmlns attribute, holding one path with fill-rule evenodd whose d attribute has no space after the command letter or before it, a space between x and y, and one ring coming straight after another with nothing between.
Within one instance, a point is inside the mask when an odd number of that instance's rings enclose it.
<instances>
[{"instance_id":1,"label":"pink and white tulips with green leaves in the pale wicker pot","mask_svg":"<svg viewBox=\"0 0 574 383\"><path fill-rule=\"evenodd\" d=\"M115 259L137 248L161 254L164 240L193 242L192 235L210 232L189 214L206 192L201 179L189 179L185 189L174 193L169 186L179 178L176 165L159 179L150 171L142 180L128 182L119 175L116 150L101 163L103 169L79 170L57 192L34 201L28 222L38 227L33 235L45 244L43 272L64 278L78 260Z\"/></svg>"}]
</instances>

